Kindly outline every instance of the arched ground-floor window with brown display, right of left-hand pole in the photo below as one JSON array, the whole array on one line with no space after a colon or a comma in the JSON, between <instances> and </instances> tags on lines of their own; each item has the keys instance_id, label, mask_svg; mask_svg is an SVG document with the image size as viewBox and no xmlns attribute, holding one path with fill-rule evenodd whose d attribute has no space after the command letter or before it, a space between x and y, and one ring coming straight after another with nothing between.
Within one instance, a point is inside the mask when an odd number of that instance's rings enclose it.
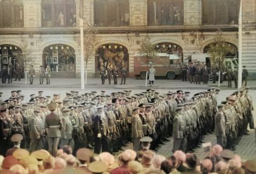
<instances>
[{"instance_id":1,"label":"arched ground-floor window with brown display, right of left-hand pole","mask_svg":"<svg viewBox=\"0 0 256 174\"><path fill-rule=\"evenodd\" d=\"M96 50L95 61L96 71L100 71L102 66L119 69L124 66L129 70L129 53L123 45L115 43L101 45Z\"/></svg>"}]
</instances>

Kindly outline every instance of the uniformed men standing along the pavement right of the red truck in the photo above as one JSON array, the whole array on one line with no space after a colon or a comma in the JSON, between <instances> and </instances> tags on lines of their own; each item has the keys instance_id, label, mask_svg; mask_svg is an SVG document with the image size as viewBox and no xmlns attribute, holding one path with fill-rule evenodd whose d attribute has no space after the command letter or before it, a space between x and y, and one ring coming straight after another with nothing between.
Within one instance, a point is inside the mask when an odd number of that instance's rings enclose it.
<instances>
[{"instance_id":1,"label":"uniformed men standing along the pavement right of the red truck","mask_svg":"<svg viewBox=\"0 0 256 174\"><path fill-rule=\"evenodd\" d=\"M212 83L216 83L217 73L219 73L219 68L214 66L212 68L207 67L206 64L201 65L200 62L197 63L189 63L182 67L182 81L189 81L190 83L195 84L208 84L210 80L210 75L212 75ZM227 65L224 70L220 70L220 83L224 81L224 75L228 82L228 88L232 88L232 81L234 81L233 87L237 88L238 86L238 66L234 66L232 69L231 65ZM242 86L247 86L247 77L249 76L248 70L246 66L243 66L242 70Z\"/></svg>"}]
</instances>

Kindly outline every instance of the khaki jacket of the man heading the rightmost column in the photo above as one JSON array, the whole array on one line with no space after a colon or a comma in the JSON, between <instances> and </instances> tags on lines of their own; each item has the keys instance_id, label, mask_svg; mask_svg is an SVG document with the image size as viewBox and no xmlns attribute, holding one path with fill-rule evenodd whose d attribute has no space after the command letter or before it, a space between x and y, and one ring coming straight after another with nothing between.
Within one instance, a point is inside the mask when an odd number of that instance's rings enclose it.
<instances>
[{"instance_id":1,"label":"khaki jacket of the man heading the rightmost column","mask_svg":"<svg viewBox=\"0 0 256 174\"><path fill-rule=\"evenodd\" d=\"M215 115L215 135L225 137L225 116L223 112L217 112Z\"/></svg>"}]
</instances>

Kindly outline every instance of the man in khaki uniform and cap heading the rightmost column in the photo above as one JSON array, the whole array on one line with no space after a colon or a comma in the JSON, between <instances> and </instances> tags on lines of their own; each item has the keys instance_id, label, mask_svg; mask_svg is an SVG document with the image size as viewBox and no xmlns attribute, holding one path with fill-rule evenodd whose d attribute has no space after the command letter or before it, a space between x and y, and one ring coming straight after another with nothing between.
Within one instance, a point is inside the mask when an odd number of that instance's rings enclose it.
<instances>
[{"instance_id":1,"label":"man in khaki uniform and cap heading the rightmost column","mask_svg":"<svg viewBox=\"0 0 256 174\"><path fill-rule=\"evenodd\" d=\"M225 130L225 116L223 112L223 104L218 105L218 112L215 115L215 135L217 137L217 144L225 148L226 145L226 130Z\"/></svg>"}]
</instances>

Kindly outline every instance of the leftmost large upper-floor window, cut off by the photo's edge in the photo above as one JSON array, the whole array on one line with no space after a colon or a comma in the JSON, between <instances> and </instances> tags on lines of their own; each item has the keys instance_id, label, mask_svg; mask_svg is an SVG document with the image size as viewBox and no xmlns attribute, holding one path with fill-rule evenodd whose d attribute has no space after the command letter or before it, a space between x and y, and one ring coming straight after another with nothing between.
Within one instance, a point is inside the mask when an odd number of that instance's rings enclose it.
<instances>
[{"instance_id":1,"label":"leftmost large upper-floor window, cut off by the photo's edge","mask_svg":"<svg viewBox=\"0 0 256 174\"><path fill-rule=\"evenodd\" d=\"M0 1L0 27L23 27L24 10L22 0Z\"/></svg>"}]
</instances>

